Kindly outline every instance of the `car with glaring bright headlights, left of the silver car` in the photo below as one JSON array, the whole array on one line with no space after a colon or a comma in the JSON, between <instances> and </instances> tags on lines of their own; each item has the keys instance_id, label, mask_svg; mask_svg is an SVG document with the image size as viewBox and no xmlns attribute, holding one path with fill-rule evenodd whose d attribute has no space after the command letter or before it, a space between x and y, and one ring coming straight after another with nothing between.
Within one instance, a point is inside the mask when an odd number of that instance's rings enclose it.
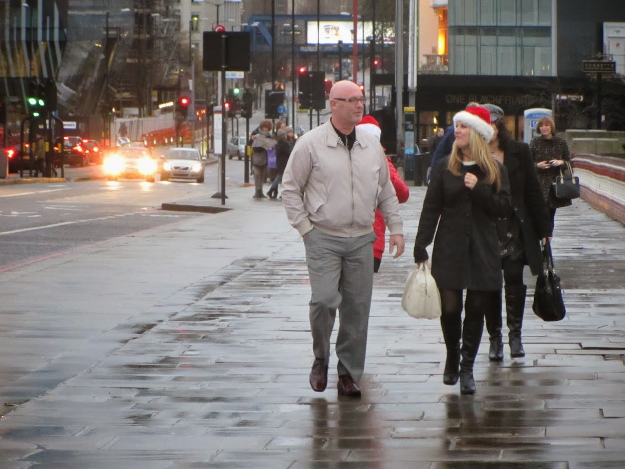
<instances>
[{"instance_id":1,"label":"car with glaring bright headlights, left of the silver car","mask_svg":"<svg viewBox=\"0 0 625 469\"><path fill-rule=\"evenodd\" d=\"M143 178L148 183L153 183L158 164L149 148L121 146L104 158L103 168L109 181L117 181L118 178Z\"/></svg>"}]
</instances>

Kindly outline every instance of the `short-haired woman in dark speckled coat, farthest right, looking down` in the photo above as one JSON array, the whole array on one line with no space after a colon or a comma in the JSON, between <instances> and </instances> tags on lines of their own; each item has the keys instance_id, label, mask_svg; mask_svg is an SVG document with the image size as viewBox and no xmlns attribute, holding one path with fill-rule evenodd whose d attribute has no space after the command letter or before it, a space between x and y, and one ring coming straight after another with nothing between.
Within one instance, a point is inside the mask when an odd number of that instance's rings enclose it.
<instances>
[{"instance_id":1,"label":"short-haired woman in dark speckled coat, farthest right, looking down","mask_svg":"<svg viewBox=\"0 0 625 469\"><path fill-rule=\"evenodd\" d=\"M572 204L571 199L559 199L553 193L552 182L560 174L559 166L564 161L571 161L569 146L563 138L556 136L556 123L549 116L542 116L536 123L539 137L529 142L529 151L536 163L538 183L541 185L542 196L547 202L551 224L556 218L556 209Z\"/></svg>"}]
</instances>

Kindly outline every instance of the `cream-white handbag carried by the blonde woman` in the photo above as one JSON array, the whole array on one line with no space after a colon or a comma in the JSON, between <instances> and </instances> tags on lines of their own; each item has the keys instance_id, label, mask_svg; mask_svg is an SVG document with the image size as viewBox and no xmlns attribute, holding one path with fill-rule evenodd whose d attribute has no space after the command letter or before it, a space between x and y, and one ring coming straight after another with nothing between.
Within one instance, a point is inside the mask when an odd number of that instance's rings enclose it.
<instances>
[{"instance_id":1,"label":"cream-white handbag carried by the blonde woman","mask_svg":"<svg viewBox=\"0 0 625 469\"><path fill-rule=\"evenodd\" d=\"M401 296L401 307L413 318L441 317L441 293L426 263L422 262L409 273Z\"/></svg>"}]
</instances>

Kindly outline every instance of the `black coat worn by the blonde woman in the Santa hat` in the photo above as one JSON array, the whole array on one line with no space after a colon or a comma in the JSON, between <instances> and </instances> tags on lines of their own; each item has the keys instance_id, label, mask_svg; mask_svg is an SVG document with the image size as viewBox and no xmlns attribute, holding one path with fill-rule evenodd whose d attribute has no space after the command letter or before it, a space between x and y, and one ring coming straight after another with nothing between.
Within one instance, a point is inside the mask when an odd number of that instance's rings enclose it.
<instances>
[{"instance_id":1,"label":"black coat worn by the blonde woman in the Santa hat","mask_svg":"<svg viewBox=\"0 0 625 469\"><path fill-rule=\"evenodd\" d=\"M434 168L414 241L414 261L428 258L426 247L434 239L431 271L439 290L501 290L496 220L509 216L511 206L507 170L502 164L499 169L501 190L495 193L476 164L463 165L459 176L447 169L447 158ZM464 186L467 172L477 176L473 189Z\"/></svg>"}]
</instances>

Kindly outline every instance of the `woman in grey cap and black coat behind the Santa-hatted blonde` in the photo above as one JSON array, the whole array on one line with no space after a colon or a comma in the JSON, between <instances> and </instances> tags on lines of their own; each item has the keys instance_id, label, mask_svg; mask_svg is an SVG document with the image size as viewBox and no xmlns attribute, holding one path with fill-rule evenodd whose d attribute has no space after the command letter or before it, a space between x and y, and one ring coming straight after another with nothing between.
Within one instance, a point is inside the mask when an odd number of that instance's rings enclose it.
<instances>
[{"instance_id":1,"label":"woman in grey cap and black coat behind the Santa-hatted blonde","mask_svg":"<svg viewBox=\"0 0 625 469\"><path fill-rule=\"evenodd\" d=\"M506 299L506 325L510 358L525 356L521 341L523 312L527 286L523 283L523 270L529 265L532 275L542 269L541 240L552 236L552 226L547 205L538 184L534 162L526 143L512 140L504 123L504 111L494 104L484 104L491 113L494 135L489 143L493 158L506 166L510 181L512 211L497 220L501 266L504 274ZM491 361L504 359L501 320L501 292L494 298L494 306L486 311L486 330L491 347Z\"/></svg>"}]
</instances>

